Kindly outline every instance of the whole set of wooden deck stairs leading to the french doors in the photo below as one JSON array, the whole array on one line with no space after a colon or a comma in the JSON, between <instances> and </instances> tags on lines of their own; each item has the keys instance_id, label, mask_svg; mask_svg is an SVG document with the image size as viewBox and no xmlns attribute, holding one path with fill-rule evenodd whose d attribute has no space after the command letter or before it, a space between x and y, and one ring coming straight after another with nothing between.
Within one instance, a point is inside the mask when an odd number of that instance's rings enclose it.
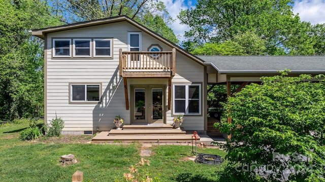
<instances>
[{"instance_id":1,"label":"whole set of wooden deck stairs leading to the french doors","mask_svg":"<svg viewBox=\"0 0 325 182\"><path fill-rule=\"evenodd\" d=\"M122 130L102 131L92 138L93 142L191 142L192 134L171 125L124 125Z\"/></svg>"}]
</instances>

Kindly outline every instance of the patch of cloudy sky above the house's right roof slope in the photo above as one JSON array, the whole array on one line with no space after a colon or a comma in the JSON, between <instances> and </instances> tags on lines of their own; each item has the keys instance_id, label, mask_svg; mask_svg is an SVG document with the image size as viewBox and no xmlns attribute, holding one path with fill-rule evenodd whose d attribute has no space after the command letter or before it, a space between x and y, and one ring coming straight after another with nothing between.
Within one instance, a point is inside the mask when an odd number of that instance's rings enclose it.
<instances>
[{"instance_id":1,"label":"patch of cloudy sky above the house's right roof slope","mask_svg":"<svg viewBox=\"0 0 325 182\"><path fill-rule=\"evenodd\" d=\"M177 18L181 10L186 10L192 7L191 1L184 1L184 0L160 0L165 3L167 12L169 15L175 20L171 26L174 30L174 33L181 41L184 41L184 33L186 30L189 29L187 25L180 24L180 20ZM196 2L196 1L195 1ZM193 8L193 7L192 7Z\"/></svg>"}]
</instances>

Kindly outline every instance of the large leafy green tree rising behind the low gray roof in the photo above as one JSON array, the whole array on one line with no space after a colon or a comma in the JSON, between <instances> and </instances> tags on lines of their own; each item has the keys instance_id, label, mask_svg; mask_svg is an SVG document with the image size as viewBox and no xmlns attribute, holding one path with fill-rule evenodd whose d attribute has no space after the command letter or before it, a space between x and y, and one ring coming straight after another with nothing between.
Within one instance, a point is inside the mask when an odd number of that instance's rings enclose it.
<instances>
[{"instance_id":1,"label":"large leafy green tree rising behind the low gray roof","mask_svg":"<svg viewBox=\"0 0 325 182\"><path fill-rule=\"evenodd\" d=\"M194 46L234 41L236 36L248 32L265 41L266 49L258 55L314 55L311 26L293 14L292 3L291 0L199 0L196 8L181 11L179 18L190 27L185 37Z\"/></svg>"}]
</instances>

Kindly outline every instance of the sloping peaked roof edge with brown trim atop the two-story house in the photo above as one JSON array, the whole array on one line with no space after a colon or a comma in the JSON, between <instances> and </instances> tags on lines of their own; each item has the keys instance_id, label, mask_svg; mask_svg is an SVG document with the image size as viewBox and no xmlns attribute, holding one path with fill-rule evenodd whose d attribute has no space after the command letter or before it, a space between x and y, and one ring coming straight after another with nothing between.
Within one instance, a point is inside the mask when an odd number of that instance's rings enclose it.
<instances>
[{"instance_id":1,"label":"sloping peaked roof edge with brown trim atop the two-story house","mask_svg":"<svg viewBox=\"0 0 325 182\"><path fill-rule=\"evenodd\" d=\"M122 22L122 21L128 22L128 23L136 26L137 28L141 29L142 31L150 34L152 37L158 39L159 41L165 43L166 45L168 45L170 47L175 48L180 53L184 54L185 56L187 56L203 65L203 62L204 62L203 60L192 55L191 53L187 52L183 48L181 48L181 47L177 46L176 44L170 42L169 40L161 37L159 34L153 32L152 30L148 29L147 27L141 25L140 23L136 22L135 20L133 20L127 16L117 16L117 17L110 17L110 18L104 18L104 19L98 19L98 20L84 21L84 22L79 22L79 23L72 23L72 24L61 25L61 26L54 26L54 27L49 27L49 28L35 29L35 30L32 30L32 35L35 35L41 39L45 39L45 35L47 33L72 30L72 29L77 29L77 28L103 25L103 24Z\"/></svg>"}]
</instances>

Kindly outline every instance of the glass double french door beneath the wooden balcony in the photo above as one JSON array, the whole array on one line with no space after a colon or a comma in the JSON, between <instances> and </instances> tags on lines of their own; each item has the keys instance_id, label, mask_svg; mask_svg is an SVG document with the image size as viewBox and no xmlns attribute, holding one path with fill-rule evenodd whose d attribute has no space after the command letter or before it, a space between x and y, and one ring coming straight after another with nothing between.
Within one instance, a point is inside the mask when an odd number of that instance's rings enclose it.
<instances>
[{"instance_id":1,"label":"glass double french door beneath the wooden balcony","mask_svg":"<svg viewBox=\"0 0 325 182\"><path fill-rule=\"evenodd\" d=\"M165 90L163 86L133 86L131 123L163 124Z\"/></svg>"}]
</instances>

